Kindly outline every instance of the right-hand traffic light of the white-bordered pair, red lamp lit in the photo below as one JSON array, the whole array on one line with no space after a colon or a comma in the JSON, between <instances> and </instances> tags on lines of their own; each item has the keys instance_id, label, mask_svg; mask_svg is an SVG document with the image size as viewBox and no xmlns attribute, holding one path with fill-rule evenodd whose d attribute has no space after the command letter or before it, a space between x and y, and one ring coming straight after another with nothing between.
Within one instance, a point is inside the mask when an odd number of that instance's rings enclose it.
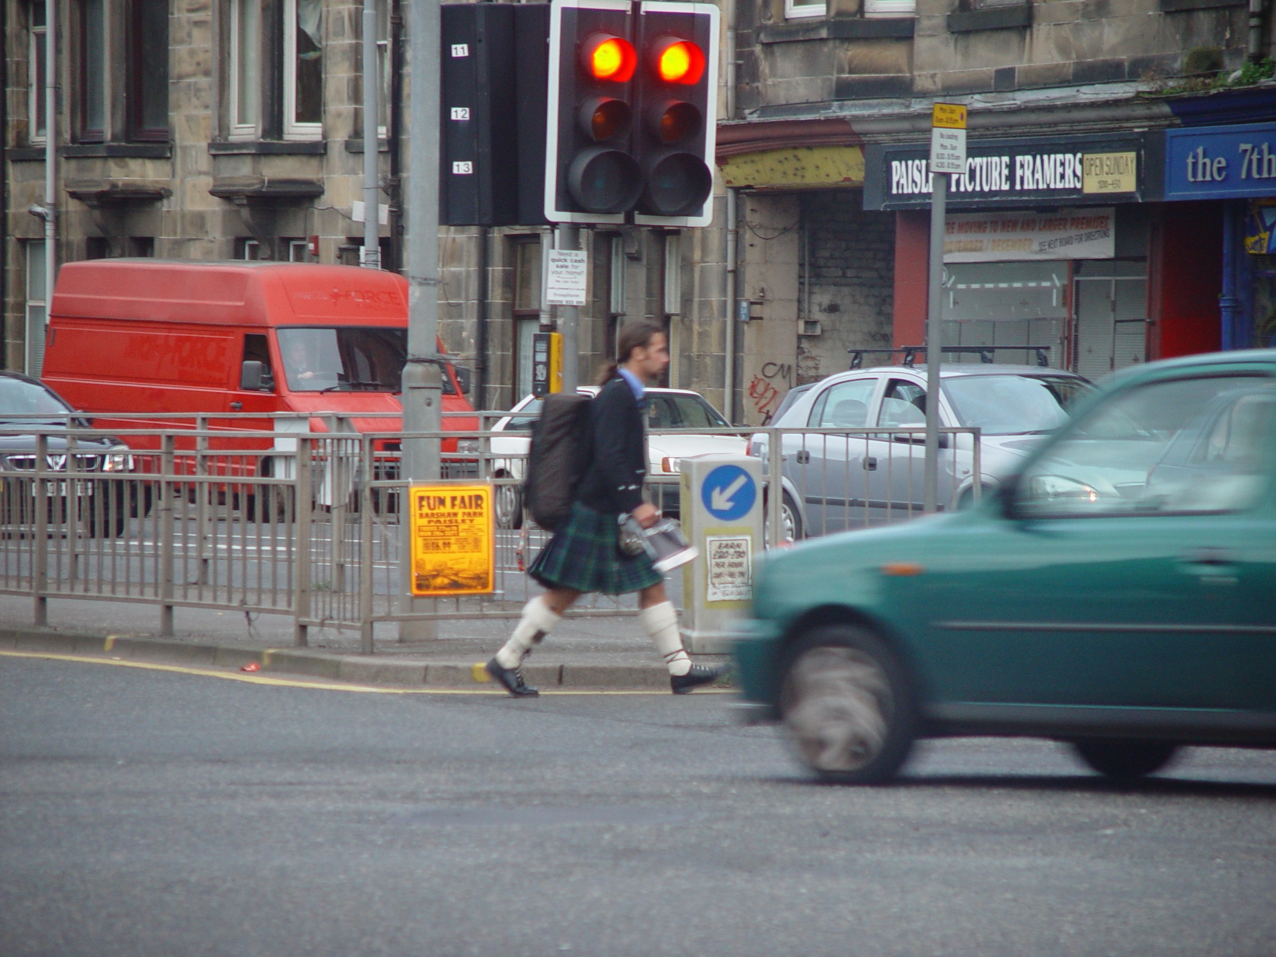
<instances>
[{"instance_id":1,"label":"right-hand traffic light of the white-bordered pair, red lamp lit","mask_svg":"<svg viewBox=\"0 0 1276 957\"><path fill-rule=\"evenodd\" d=\"M651 0L638 5L634 156L641 226L708 226L713 218L718 9Z\"/></svg>"}]
</instances>

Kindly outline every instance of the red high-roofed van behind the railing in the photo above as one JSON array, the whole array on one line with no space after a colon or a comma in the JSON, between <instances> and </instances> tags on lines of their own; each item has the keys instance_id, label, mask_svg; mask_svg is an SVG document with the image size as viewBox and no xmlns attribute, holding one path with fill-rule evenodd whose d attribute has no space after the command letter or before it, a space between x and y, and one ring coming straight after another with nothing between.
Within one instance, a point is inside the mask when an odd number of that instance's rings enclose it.
<instances>
[{"instance_id":1,"label":"red high-roofed van behind the railing","mask_svg":"<svg viewBox=\"0 0 1276 957\"><path fill-rule=\"evenodd\" d=\"M353 431L398 431L407 296L402 276L350 265L66 263L48 315L43 380L106 429L171 427L165 413L301 412L314 416L311 431L325 431L323 416L332 413ZM468 375L458 379L447 364L443 411L472 413L467 390ZM112 412L156 420L111 420ZM393 417L360 417L374 412ZM305 430L301 422L295 427ZM269 419L236 425L272 429ZM478 420L444 416L443 427L473 431ZM457 440L444 440L443 450L458 452Z\"/></svg>"}]
</instances>

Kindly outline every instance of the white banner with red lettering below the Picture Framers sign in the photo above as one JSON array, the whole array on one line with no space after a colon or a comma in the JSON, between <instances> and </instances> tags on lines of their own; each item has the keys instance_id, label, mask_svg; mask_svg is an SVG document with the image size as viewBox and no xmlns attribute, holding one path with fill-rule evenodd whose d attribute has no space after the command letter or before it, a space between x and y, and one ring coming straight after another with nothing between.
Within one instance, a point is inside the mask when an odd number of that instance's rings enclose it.
<instances>
[{"instance_id":1,"label":"white banner with red lettering below the Picture Framers sign","mask_svg":"<svg viewBox=\"0 0 1276 957\"><path fill-rule=\"evenodd\" d=\"M958 213L944 226L946 263L1017 259L1111 259L1114 207L1039 213Z\"/></svg>"}]
</instances>

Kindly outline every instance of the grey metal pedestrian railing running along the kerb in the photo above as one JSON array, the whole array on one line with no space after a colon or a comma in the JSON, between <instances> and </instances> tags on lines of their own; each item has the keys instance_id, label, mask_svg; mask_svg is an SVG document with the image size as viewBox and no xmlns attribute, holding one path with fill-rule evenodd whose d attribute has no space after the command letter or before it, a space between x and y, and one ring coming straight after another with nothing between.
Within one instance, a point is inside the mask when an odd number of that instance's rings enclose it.
<instances>
[{"instance_id":1,"label":"grey metal pedestrian railing running along the kerb","mask_svg":"<svg viewBox=\"0 0 1276 957\"><path fill-rule=\"evenodd\" d=\"M549 536L519 507L527 433L420 434L448 443L441 481L490 482L494 501L508 505L494 532L494 592L431 598L421 610L421 600L410 606L401 596L403 434L357 433L334 417L320 417L329 431L287 417L267 431L244 427L244 417L110 431L42 417L0 427L0 592L31 595L37 625L47 624L50 598L154 605L161 634L174 633L181 607L279 614L292 616L297 644L311 628L337 628L359 632L371 653L379 624L513 618L540 591L526 567ZM740 436L762 457L768 544L920 513L920 430L712 434ZM977 498L977 430L943 434L951 467L940 472L942 495L949 504L962 489ZM777 473L782 491L773 495ZM676 472L651 476L648 486L666 512L678 510ZM635 605L632 596L591 596L573 611L623 615Z\"/></svg>"}]
</instances>

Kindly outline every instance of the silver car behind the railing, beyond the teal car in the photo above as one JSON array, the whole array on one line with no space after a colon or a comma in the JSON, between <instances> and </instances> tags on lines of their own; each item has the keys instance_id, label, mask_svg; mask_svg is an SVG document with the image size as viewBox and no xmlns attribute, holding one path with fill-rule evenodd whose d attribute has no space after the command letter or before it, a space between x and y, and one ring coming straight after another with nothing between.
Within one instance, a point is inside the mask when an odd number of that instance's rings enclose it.
<instances>
[{"instance_id":1,"label":"silver car behind the railing, beyond the teal car","mask_svg":"<svg viewBox=\"0 0 1276 957\"><path fill-rule=\"evenodd\" d=\"M944 364L940 384L940 426L980 429L981 490L995 486L1042 435L1067 421L1076 399L1094 389L1074 373L1000 364ZM925 422L923 367L852 369L805 388L771 427L849 431L782 435L786 537L863 528L920 514L923 435L855 430L916 430ZM754 435L749 454L766 458L767 440L767 434ZM943 508L970 503L974 472L971 436L940 435Z\"/></svg>"}]
</instances>

